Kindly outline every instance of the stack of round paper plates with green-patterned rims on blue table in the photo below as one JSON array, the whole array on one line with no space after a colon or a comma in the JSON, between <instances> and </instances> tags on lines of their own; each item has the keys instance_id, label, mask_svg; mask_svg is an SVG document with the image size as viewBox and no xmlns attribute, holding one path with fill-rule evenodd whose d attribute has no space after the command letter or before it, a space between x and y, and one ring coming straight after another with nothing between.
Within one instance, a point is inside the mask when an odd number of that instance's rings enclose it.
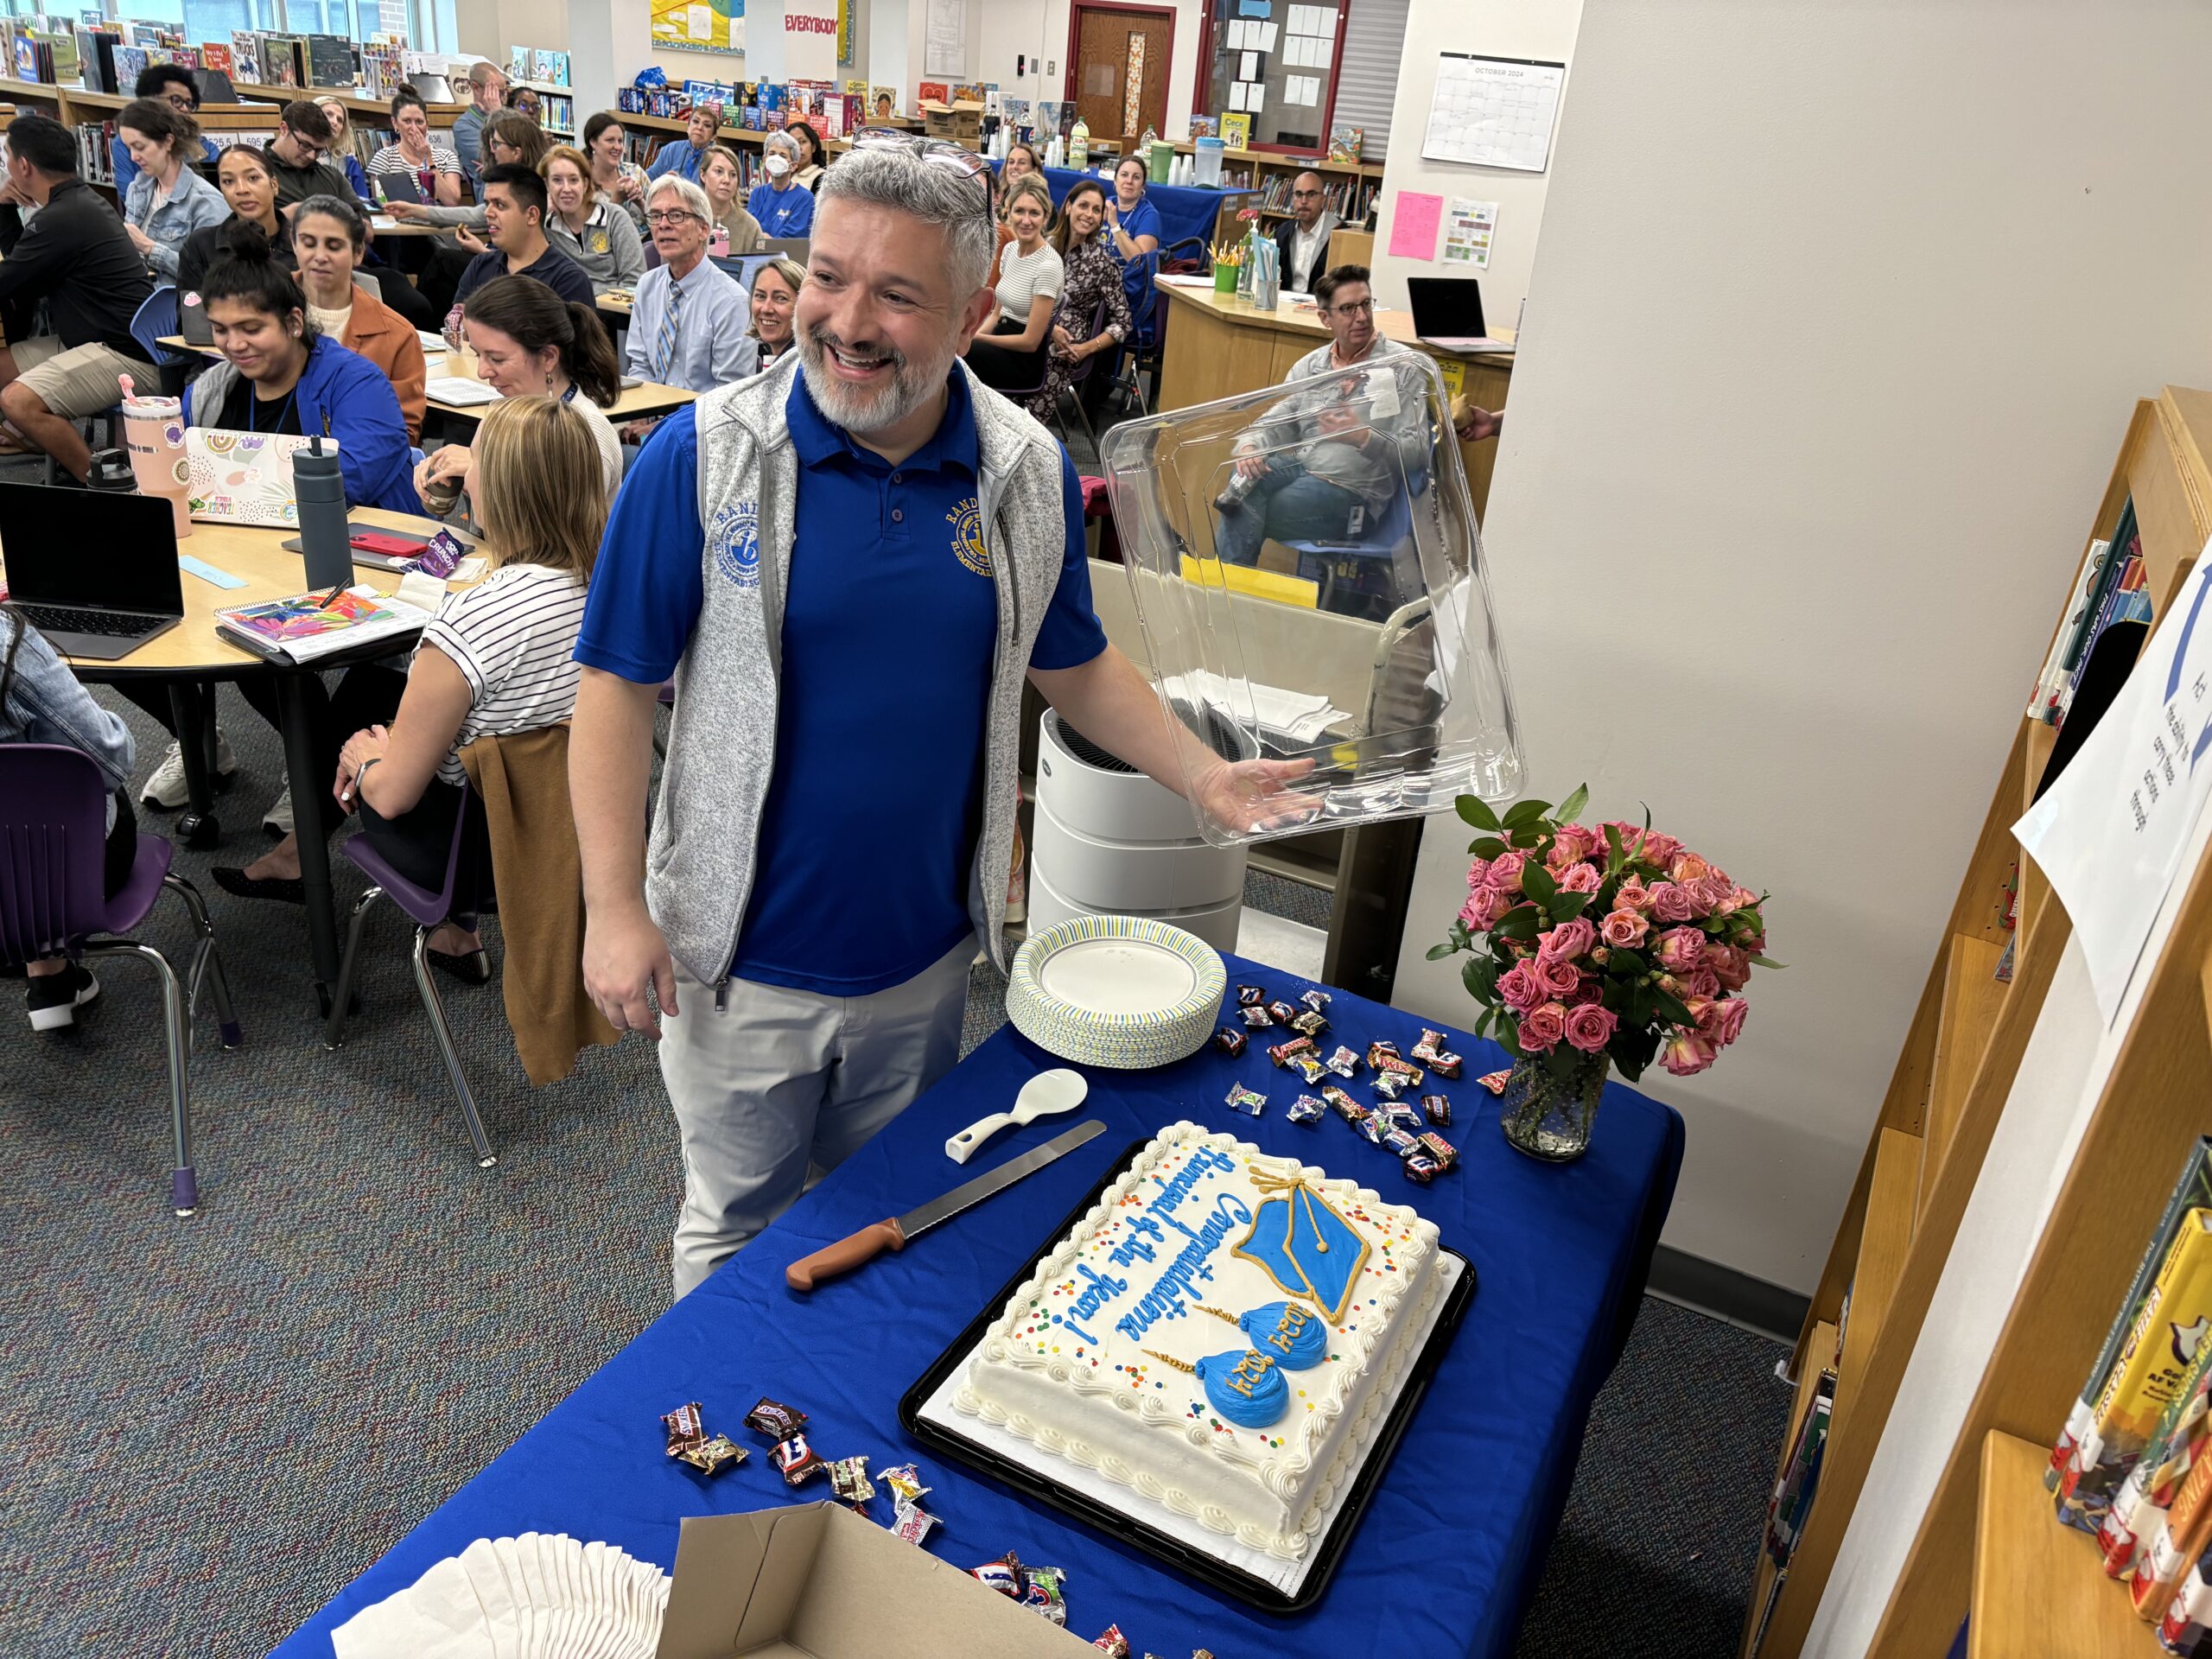
<instances>
[{"instance_id":1,"label":"stack of round paper plates with green-patterned rims on blue table","mask_svg":"<svg viewBox=\"0 0 2212 1659\"><path fill-rule=\"evenodd\" d=\"M1086 1066L1166 1066L1214 1031L1228 971L1214 947L1139 916L1077 916L1013 958L1006 1018Z\"/></svg>"}]
</instances>

